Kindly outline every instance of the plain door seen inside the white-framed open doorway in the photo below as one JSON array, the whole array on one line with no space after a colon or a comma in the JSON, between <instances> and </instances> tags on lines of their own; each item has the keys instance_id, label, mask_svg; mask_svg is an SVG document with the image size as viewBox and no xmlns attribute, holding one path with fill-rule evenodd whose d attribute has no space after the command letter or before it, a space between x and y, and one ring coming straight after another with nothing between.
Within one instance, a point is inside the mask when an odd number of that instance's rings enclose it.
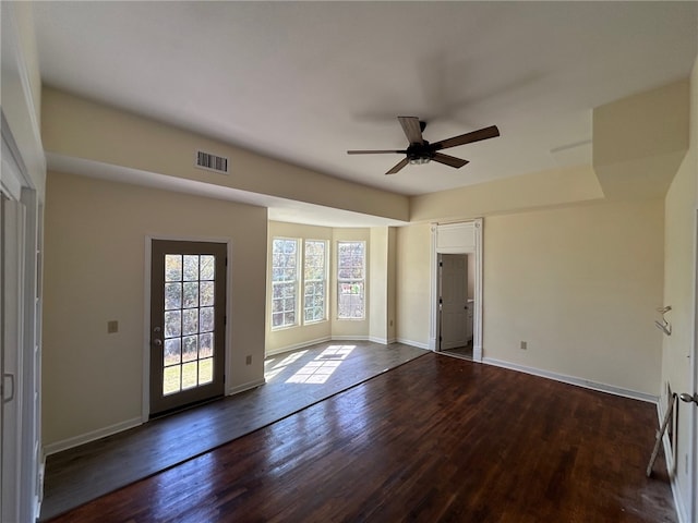
<instances>
[{"instance_id":1,"label":"plain door seen inside the white-framed open doorway","mask_svg":"<svg viewBox=\"0 0 698 523\"><path fill-rule=\"evenodd\" d=\"M468 343L468 259L440 255L441 343L445 351Z\"/></svg>"}]
</instances>

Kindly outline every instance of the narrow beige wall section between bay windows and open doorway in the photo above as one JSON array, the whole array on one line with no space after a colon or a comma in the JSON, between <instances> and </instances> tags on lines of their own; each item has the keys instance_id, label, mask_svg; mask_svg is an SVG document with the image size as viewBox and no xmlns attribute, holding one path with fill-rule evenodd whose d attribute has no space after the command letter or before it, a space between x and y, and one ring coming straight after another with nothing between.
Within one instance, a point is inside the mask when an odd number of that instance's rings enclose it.
<instances>
[{"instance_id":1,"label":"narrow beige wall section between bay windows and open doorway","mask_svg":"<svg viewBox=\"0 0 698 523\"><path fill-rule=\"evenodd\" d=\"M431 226L397 229L397 339L429 348Z\"/></svg>"}]
</instances>

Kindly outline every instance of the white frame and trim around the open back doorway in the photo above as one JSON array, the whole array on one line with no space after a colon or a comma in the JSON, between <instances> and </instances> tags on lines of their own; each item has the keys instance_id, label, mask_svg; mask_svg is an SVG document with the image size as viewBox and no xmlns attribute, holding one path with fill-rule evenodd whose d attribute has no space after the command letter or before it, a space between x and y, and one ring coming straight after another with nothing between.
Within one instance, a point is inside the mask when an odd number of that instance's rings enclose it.
<instances>
[{"instance_id":1,"label":"white frame and trim around the open back doorway","mask_svg":"<svg viewBox=\"0 0 698 523\"><path fill-rule=\"evenodd\" d=\"M438 255L474 254L472 360L482 362L482 218L458 223L434 223L431 241L431 315L429 348L438 348Z\"/></svg>"}]
</instances>

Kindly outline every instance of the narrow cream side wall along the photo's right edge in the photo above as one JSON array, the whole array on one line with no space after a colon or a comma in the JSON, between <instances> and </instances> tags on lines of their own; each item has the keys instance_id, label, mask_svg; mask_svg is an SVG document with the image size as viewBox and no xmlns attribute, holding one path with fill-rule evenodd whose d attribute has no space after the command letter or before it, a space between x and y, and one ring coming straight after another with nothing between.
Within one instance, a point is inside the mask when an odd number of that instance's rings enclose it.
<instances>
[{"instance_id":1,"label":"narrow cream side wall along the photo's right edge","mask_svg":"<svg viewBox=\"0 0 698 523\"><path fill-rule=\"evenodd\" d=\"M662 393L665 393L667 382L674 392L695 392L691 388L689 356L696 330L696 209L698 209L698 60L694 65L690 83L690 147L672 182L665 202L663 303L672 306L672 311L665 316L672 324L672 336L664 336L662 340ZM664 397L663 405L666 405L666 402L667 398ZM687 500L690 495L686 463L690 446L688 413L691 408L679 402L678 409L675 473L682 498Z\"/></svg>"}]
</instances>

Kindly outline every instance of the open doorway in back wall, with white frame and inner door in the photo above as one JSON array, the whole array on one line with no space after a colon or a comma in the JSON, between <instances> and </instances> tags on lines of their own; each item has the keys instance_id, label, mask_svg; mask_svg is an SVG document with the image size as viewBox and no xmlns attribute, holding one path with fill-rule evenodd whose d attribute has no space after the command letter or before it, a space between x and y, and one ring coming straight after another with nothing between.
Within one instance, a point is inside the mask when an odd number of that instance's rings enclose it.
<instances>
[{"instance_id":1,"label":"open doorway in back wall, with white frame and inner door","mask_svg":"<svg viewBox=\"0 0 698 523\"><path fill-rule=\"evenodd\" d=\"M482 220L432 228L430 348L482 361Z\"/></svg>"}]
</instances>

